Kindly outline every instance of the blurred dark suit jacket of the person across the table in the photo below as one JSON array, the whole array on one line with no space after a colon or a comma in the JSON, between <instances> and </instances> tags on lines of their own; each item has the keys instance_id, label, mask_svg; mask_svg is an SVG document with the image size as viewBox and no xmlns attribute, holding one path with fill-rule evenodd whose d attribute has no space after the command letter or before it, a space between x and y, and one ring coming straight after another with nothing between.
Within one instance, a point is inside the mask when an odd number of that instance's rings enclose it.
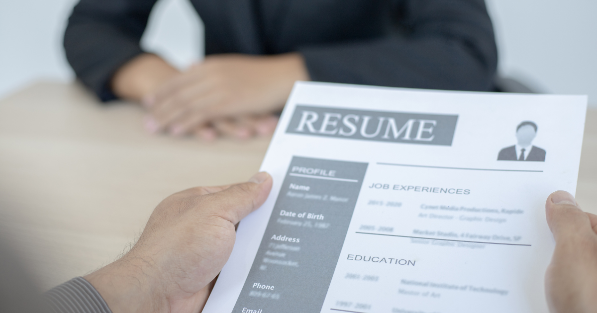
<instances>
[{"instance_id":1,"label":"blurred dark suit jacket of the person across the table","mask_svg":"<svg viewBox=\"0 0 597 313\"><path fill-rule=\"evenodd\" d=\"M78 78L104 100L141 54L156 0L81 0L64 34ZM298 51L312 80L489 91L497 66L483 0L190 0L205 54Z\"/></svg>"}]
</instances>

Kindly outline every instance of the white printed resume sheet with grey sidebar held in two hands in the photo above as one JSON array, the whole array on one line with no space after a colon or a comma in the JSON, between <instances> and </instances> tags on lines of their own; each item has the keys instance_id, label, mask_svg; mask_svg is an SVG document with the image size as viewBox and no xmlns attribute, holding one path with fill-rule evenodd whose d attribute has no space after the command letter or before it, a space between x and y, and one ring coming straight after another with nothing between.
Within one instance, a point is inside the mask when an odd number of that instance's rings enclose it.
<instances>
[{"instance_id":1,"label":"white printed resume sheet with grey sidebar held in two hands","mask_svg":"<svg viewBox=\"0 0 597 313\"><path fill-rule=\"evenodd\" d=\"M584 96L298 82L207 313L547 312Z\"/></svg>"}]
</instances>

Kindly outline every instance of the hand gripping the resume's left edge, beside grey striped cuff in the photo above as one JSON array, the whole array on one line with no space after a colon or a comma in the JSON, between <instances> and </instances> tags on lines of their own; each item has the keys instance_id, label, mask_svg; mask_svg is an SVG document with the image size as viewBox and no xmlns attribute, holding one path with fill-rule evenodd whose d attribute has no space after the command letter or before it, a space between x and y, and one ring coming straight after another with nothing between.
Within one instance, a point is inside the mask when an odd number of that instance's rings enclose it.
<instances>
[{"instance_id":1,"label":"hand gripping the resume's left edge, beside grey striped cuff","mask_svg":"<svg viewBox=\"0 0 597 313\"><path fill-rule=\"evenodd\" d=\"M198 187L153 211L133 249L85 276L112 312L201 312L232 252L235 225L267 199L272 178Z\"/></svg>"}]
</instances>

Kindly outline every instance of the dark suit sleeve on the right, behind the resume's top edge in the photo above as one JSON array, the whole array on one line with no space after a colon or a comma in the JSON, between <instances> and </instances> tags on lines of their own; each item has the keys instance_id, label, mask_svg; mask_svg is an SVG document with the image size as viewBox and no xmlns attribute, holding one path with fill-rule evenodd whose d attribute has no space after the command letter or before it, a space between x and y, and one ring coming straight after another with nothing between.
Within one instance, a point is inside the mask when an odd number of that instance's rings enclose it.
<instances>
[{"instance_id":1,"label":"dark suit sleeve on the right, behind the resume's top edge","mask_svg":"<svg viewBox=\"0 0 597 313\"><path fill-rule=\"evenodd\" d=\"M405 0L392 18L401 35L299 49L312 80L490 91L497 68L483 0Z\"/></svg>"}]
</instances>

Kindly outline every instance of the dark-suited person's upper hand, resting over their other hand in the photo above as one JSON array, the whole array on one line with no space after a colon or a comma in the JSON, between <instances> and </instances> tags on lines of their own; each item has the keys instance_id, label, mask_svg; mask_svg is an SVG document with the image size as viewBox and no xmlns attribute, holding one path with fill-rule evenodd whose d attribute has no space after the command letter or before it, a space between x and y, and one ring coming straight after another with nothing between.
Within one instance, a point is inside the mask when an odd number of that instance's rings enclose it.
<instances>
[{"instance_id":1,"label":"dark-suited person's upper hand, resting over their other hand","mask_svg":"<svg viewBox=\"0 0 597 313\"><path fill-rule=\"evenodd\" d=\"M308 79L297 53L208 56L144 97L150 112L146 128L185 135L218 130L208 123L229 117L267 116L284 107L296 80Z\"/></svg>"}]
</instances>

